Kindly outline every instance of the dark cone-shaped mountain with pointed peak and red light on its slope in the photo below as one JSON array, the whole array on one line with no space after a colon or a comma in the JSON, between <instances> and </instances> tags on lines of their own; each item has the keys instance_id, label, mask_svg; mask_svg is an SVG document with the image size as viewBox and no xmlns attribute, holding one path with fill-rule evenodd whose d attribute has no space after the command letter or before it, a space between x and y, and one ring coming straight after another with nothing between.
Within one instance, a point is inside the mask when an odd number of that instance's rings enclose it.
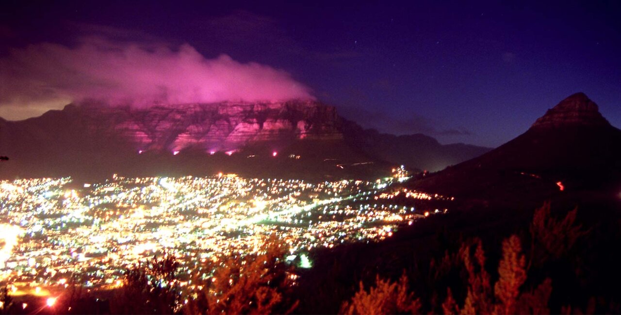
<instances>
[{"instance_id":1,"label":"dark cone-shaped mountain with pointed peak and red light on its slope","mask_svg":"<svg viewBox=\"0 0 621 315\"><path fill-rule=\"evenodd\" d=\"M505 205L578 191L617 198L621 130L611 126L584 93L576 93L524 134L410 186Z\"/></svg>"}]
</instances>

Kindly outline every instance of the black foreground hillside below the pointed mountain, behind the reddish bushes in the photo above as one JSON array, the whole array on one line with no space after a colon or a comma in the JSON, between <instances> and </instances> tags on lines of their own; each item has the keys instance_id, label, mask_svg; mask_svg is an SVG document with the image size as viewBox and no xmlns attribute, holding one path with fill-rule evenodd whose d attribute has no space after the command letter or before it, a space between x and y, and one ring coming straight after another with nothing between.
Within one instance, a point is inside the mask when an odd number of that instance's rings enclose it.
<instances>
[{"instance_id":1,"label":"black foreground hillside below the pointed mountain, behind the reddish bushes","mask_svg":"<svg viewBox=\"0 0 621 315\"><path fill-rule=\"evenodd\" d=\"M564 217L577 206L574 225L581 225L588 233L578 238L564 256L532 267L523 290L531 290L551 277L548 304L551 314L561 313L564 306L588 313L617 313L615 303L621 302L621 289L617 285L621 272L616 262L621 255L614 248L621 241L621 202L612 197L594 199L587 194L550 200L551 213L556 218ZM302 274L297 296L301 305L296 313L338 313L343 301L359 290L360 281L368 290L376 275L394 281L405 272L414 295L423 301L423 309L442 314L440 304L446 298L446 288L450 287L458 303L463 304L464 283L468 283L465 270L460 270L458 265L438 270L446 254L456 254L463 244L481 239L487 257L486 269L492 281L496 281L502 241L510 235L522 239L523 252L530 259L533 210L526 207L456 210L421 220L381 243L351 244L315 252L314 269ZM587 311L591 305L595 310Z\"/></svg>"}]
</instances>

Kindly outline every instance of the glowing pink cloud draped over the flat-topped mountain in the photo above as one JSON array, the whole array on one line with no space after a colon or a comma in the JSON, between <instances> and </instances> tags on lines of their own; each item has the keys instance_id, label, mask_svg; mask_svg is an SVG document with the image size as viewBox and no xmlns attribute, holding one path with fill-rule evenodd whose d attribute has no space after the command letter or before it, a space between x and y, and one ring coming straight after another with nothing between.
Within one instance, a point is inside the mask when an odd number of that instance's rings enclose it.
<instances>
[{"instance_id":1,"label":"glowing pink cloud draped over the flat-topped mountain","mask_svg":"<svg viewBox=\"0 0 621 315\"><path fill-rule=\"evenodd\" d=\"M0 106L50 107L85 99L110 104L278 101L313 98L288 72L207 59L190 45L84 38L75 48L40 43L0 58ZM43 104L43 105L42 105Z\"/></svg>"}]
</instances>

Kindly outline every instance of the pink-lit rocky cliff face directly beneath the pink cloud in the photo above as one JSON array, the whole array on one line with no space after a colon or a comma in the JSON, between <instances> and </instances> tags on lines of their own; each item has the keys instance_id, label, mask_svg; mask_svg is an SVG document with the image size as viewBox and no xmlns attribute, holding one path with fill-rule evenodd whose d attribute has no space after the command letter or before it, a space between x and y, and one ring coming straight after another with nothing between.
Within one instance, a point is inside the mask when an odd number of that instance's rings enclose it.
<instances>
[{"instance_id":1,"label":"pink-lit rocky cliff face directly beneath the pink cloud","mask_svg":"<svg viewBox=\"0 0 621 315\"><path fill-rule=\"evenodd\" d=\"M214 153L253 142L342 139L334 108L311 101L149 108L69 105L63 111L73 111L91 124L86 127L91 132L88 137L117 136L142 152L199 149Z\"/></svg>"}]
</instances>

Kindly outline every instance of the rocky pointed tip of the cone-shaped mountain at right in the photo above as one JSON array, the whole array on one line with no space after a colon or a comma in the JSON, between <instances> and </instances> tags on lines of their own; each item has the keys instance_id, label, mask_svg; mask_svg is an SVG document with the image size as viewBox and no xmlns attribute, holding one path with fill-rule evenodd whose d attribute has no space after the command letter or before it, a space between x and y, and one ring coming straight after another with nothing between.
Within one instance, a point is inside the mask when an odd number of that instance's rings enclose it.
<instances>
[{"instance_id":1,"label":"rocky pointed tip of the cone-shaped mountain at right","mask_svg":"<svg viewBox=\"0 0 621 315\"><path fill-rule=\"evenodd\" d=\"M610 126L599 113L597 104L586 94L579 92L562 100L537 119L532 128L556 128L563 126Z\"/></svg>"}]
</instances>

